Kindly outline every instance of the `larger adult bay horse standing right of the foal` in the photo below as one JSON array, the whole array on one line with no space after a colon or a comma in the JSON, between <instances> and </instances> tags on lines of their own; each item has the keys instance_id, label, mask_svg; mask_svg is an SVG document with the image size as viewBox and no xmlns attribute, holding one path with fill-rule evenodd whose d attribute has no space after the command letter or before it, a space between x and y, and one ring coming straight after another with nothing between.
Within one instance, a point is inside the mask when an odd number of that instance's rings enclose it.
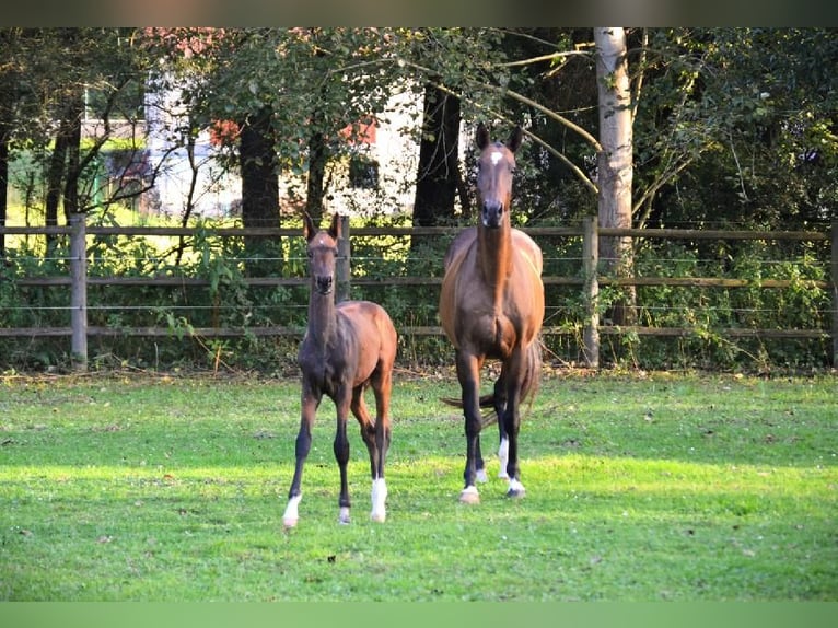
<instances>
[{"instance_id":1,"label":"larger adult bay horse standing right of the foal","mask_svg":"<svg viewBox=\"0 0 838 628\"><path fill-rule=\"evenodd\" d=\"M542 251L510 221L515 151L523 131L515 127L504 144L490 141L489 131L479 125L476 139L479 222L461 232L445 254L439 309L455 348L462 389L466 468L459 500L465 503L480 501L475 481L486 481L481 405L492 407L498 417L498 475L509 479L507 495L525 492L517 457L520 406L538 385L544 321ZM493 393L481 397L480 370L487 359L500 360L501 371Z\"/></svg>"}]
</instances>

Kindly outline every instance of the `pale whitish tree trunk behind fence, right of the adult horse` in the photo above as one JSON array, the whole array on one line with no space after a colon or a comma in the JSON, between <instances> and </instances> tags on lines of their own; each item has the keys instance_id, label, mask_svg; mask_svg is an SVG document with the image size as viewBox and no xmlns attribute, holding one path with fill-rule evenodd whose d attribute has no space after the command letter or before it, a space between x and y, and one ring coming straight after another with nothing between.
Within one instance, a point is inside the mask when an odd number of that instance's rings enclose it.
<instances>
[{"instance_id":1,"label":"pale whitish tree trunk behind fence, right of the adult horse","mask_svg":"<svg viewBox=\"0 0 838 628\"><path fill-rule=\"evenodd\" d=\"M620 27L594 28L596 45L596 82L600 105L600 143L597 159L601 228L631 226L632 135L631 92L628 77L626 33ZM633 254L629 237L601 237L600 259L604 271L627 277L633 271ZM614 304L610 317L616 325L635 319L635 288L628 288Z\"/></svg>"}]
</instances>

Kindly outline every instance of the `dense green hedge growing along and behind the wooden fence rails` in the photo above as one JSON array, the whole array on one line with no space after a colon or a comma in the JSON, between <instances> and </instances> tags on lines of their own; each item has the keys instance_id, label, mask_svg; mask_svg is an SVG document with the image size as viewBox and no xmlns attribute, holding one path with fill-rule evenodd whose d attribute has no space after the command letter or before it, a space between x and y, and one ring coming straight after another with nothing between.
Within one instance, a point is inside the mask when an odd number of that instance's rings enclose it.
<instances>
[{"instance_id":1,"label":"dense green hedge growing along and behind the wooden fence rails","mask_svg":"<svg viewBox=\"0 0 838 628\"><path fill-rule=\"evenodd\" d=\"M352 242L353 277L381 282L352 287L352 298L384 305L398 327L435 326L437 289L388 284L389 277L431 277L442 272L449 237L363 237ZM828 243L767 243L741 241L639 241L639 277L721 277L790 280L787 289L639 287L638 323L651 327L689 327L690 337L642 338L625 334L603 338L603 365L643 369L822 369L829 365L831 341L823 339L731 338L729 328L823 329L829 333L829 294L806 280L827 280ZM205 288L101 287L88 289L89 324L113 328L166 326L167 338L92 337L91 368L226 368L265 372L293 372L299 341L295 337L200 338L197 327L304 327L307 288L247 287L242 239L209 234L191 241L177 264L172 251L161 251L143 239L97 236L90 247L89 274L100 277L175 276L210 280ZM540 242L545 275L580 275L581 241L551 237ZM282 276L304 277L303 239L282 242ZM69 324L67 287L21 286L23 277L68 274L66 243L45 256L22 244L7 249L0 268L0 326L50 327ZM618 296L603 288L601 307L607 317ZM581 361L582 294L574 286L548 286L545 323L565 330L546 335L546 359L558 363ZM607 321L605 321L607 323ZM452 361L444 337L403 335L399 359L405 364L434 365ZM0 337L3 370L62 369L69 364L66 337Z\"/></svg>"}]
</instances>

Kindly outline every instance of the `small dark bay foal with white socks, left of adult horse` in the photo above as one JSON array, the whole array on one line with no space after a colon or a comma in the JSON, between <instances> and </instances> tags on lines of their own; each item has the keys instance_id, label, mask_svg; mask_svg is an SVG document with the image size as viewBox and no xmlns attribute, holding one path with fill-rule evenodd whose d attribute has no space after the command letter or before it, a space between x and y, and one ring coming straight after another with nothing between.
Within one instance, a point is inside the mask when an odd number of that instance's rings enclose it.
<instances>
[{"instance_id":1,"label":"small dark bay foal with white socks, left of adult horse","mask_svg":"<svg viewBox=\"0 0 838 628\"><path fill-rule=\"evenodd\" d=\"M286 527L293 527L298 523L303 465L311 449L312 426L323 395L329 397L337 409L334 451L340 468L338 521L349 523L351 505L347 484L347 418L351 410L361 425L361 438L370 452L370 516L373 521L383 522L386 517L387 497L384 461L391 441L389 396L396 360L396 329L384 309L375 303L335 303L340 217L333 216L328 230L317 230L311 217L305 214L303 234L309 243L306 251L311 291L309 324L298 356L302 370L302 416L295 443L296 466L282 522ZM364 391L370 386L375 394L374 421L370 418L363 398Z\"/></svg>"}]
</instances>

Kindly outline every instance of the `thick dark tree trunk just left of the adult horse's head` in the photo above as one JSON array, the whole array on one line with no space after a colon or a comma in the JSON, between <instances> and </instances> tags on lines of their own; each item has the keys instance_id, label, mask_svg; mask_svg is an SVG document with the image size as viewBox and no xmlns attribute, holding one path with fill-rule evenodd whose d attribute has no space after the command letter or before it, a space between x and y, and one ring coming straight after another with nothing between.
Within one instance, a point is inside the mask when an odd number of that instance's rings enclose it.
<instances>
[{"instance_id":1,"label":"thick dark tree trunk just left of the adult horse's head","mask_svg":"<svg viewBox=\"0 0 838 628\"><path fill-rule=\"evenodd\" d=\"M454 200L461 187L459 119L459 98L427 85L414 226L434 226L454 217ZM414 237L412 245L419 240Z\"/></svg>"}]
</instances>

